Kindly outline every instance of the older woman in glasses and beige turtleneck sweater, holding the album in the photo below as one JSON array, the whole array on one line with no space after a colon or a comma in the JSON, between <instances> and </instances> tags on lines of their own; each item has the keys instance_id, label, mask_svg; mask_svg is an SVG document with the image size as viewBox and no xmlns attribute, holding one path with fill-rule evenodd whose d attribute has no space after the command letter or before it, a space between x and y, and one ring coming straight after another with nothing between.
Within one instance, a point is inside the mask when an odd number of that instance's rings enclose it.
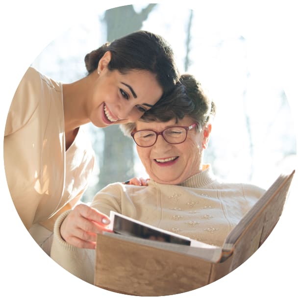
<instances>
[{"instance_id":1,"label":"older woman in glasses and beige turtleneck sweater, holding the album","mask_svg":"<svg viewBox=\"0 0 300 300\"><path fill-rule=\"evenodd\" d=\"M226 236L264 193L259 187L219 181L202 162L215 115L214 102L192 75L182 75L172 97L139 121L122 125L137 145L148 186L117 182L103 188L86 215L76 208L56 222L51 257L93 283L96 233L107 230L111 210L201 242L222 246ZM77 248L76 248L77 246Z\"/></svg>"}]
</instances>

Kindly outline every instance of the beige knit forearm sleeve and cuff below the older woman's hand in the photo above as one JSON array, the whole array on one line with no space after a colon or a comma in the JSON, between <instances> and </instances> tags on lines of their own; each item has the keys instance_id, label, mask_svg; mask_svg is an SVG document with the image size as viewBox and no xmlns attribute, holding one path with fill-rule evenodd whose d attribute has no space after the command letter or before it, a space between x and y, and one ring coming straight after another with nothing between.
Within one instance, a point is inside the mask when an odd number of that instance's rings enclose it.
<instances>
[{"instance_id":1,"label":"beige knit forearm sleeve and cuff below the older woman's hand","mask_svg":"<svg viewBox=\"0 0 300 300\"><path fill-rule=\"evenodd\" d=\"M94 284L95 250L72 246L60 235L60 226L70 212L62 213L55 222L50 257L71 274Z\"/></svg>"}]
</instances>

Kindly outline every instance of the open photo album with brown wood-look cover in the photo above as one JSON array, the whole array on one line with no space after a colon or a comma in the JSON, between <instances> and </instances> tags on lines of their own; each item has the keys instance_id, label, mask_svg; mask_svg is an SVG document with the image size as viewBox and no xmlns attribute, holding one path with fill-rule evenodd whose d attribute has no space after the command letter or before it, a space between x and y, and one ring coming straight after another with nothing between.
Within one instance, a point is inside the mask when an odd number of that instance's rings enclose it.
<instances>
[{"instance_id":1,"label":"open photo album with brown wood-look cover","mask_svg":"<svg viewBox=\"0 0 300 300\"><path fill-rule=\"evenodd\" d=\"M127 295L166 296L220 279L245 262L270 235L294 173L279 175L222 247L111 212L113 232L97 236L95 285Z\"/></svg>"}]
</instances>

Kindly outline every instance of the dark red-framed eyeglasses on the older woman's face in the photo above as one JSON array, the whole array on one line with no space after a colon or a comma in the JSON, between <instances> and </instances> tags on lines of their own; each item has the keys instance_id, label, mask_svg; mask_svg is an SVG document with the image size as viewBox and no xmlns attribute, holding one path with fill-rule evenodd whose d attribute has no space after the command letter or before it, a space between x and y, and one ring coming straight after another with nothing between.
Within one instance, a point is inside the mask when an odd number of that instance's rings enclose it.
<instances>
[{"instance_id":1,"label":"dark red-framed eyeglasses on the older woman's face","mask_svg":"<svg viewBox=\"0 0 300 300\"><path fill-rule=\"evenodd\" d=\"M134 142L140 147L153 146L157 141L158 135L161 135L169 144L181 144L186 140L188 131L197 125L197 123L194 123L188 127L172 126L161 132L154 130L137 130L131 132L131 136Z\"/></svg>"}]
</instances>

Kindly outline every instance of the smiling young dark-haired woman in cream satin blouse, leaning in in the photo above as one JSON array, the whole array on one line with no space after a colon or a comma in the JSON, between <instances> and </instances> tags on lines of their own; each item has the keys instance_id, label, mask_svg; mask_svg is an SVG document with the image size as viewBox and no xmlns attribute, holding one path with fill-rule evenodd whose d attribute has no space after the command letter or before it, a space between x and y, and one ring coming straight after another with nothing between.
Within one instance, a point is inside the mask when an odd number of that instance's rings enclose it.
<instances>
[{"instance_id":1,"label":"smiling young dark-haired woman in cream satin blouse, leaning in","mask_svg":"<svg viewBox=\"0 0 300 300\"><path fill-rule=\"evenodd\" d=\"M138 120L175 86L168 43L137 31L86 55L88 75L63 84L33 68L12 100L4 133L4 166L17 212L49 254L53 224L85 191L94 151L80 127Z\"/></svg>"}]
</instances>

